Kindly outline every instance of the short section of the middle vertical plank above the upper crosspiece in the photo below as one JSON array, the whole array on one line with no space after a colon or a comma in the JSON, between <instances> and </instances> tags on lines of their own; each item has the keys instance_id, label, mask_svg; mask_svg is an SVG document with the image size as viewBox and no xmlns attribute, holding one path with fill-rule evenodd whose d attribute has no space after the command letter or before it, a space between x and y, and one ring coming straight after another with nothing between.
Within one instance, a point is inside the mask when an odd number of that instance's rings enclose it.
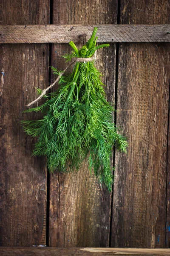
<instances>
[{"instance_id":1,"label":"short section of the middle vertical plank above the upper crosspiece","mask_svg":"<svg viewBox=\"0 0 170 256\"><path fill-rule=\"evenodd\" d=\"M53 24L115 24L117 1L54 0Z\"/></svg>"}]
</instances>

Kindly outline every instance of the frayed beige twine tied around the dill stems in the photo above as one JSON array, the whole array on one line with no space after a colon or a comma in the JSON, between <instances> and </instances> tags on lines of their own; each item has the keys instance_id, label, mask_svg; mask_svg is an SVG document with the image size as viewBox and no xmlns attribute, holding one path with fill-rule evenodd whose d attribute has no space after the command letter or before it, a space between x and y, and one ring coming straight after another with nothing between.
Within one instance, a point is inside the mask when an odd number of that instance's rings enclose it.
<instances>
[{"instance_id":1,"label":"frayed beige twine tied around the dill stems","mask_svg":"<svg viewBox=\"0 0 170 256\"><path fill-rule=\"evenodd\" d=\"M44 90L42 90L41 95L35 99L34 101L30 102L28 105L26 105L27 107L31 106L32 104L34 104L35 102L39 101L45 94L46 92L51 89L60 79L60 77L65 73L65 71L72 65L74 64L74 62L88 62L88 61L93 61L94 58L74 58L74 61L72 61L63 71L62 73L60 73L60 75L57 77L57 79L54 81L54 83L52 83L50 86L48 86L47 88L45 88Z\"/></svg>"}]
</instances>

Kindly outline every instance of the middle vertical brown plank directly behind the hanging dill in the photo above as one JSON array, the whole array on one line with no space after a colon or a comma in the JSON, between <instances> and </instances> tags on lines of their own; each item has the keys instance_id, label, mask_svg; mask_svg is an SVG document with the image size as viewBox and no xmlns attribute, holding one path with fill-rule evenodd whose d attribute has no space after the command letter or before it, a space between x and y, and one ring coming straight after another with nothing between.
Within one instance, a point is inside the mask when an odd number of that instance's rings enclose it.
<instances>
[{"instance_id":1,"label":"middle vertical brown plank directly behind the hanging dill","mask_svg":"<svg viewBox=\"0 0 170 256\"><path fill-rule=\"evenodd\" d=\"M108 0L93 2L54 0L54 24L116 23L117 3ZM82 31L83 34L83 31ZM71 52L68 44L52 47L52 65L64 69L61 57ZM114 102L116 46L96 54L96 66L107 84L108 100ZM71 68L72 69L72 68ZM54 247L109 245L111 194L89 174L85 162L74 174L51 175L49 245Z\"/></svg>"}]
</instances>

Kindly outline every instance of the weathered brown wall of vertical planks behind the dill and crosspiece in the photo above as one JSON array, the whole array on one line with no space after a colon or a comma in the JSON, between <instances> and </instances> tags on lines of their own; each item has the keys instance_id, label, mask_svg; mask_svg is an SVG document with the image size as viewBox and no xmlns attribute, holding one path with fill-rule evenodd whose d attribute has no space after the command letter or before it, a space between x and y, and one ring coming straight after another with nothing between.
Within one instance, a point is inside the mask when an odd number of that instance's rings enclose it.
<instances>
[{"instance_id":1,"label":"weathered brown wall of vertical planks behind the dill and crosspiece","mask_svg":"<svg viewBox=\"0 0 170 256\"><path fill-rule=\"evenodd\" d=\"M0 25L165 24L169 0L1 0ZM83 33L83 31L82 31ZM68 44L0 45L0 245L170 247L170 44L113 43L97 52L128 153L113 154L113 193L89 175L49 175L19 121L35 87L64 69ZM29 118L37 118L30 114Z\"/></svg>"}]
</instances>

